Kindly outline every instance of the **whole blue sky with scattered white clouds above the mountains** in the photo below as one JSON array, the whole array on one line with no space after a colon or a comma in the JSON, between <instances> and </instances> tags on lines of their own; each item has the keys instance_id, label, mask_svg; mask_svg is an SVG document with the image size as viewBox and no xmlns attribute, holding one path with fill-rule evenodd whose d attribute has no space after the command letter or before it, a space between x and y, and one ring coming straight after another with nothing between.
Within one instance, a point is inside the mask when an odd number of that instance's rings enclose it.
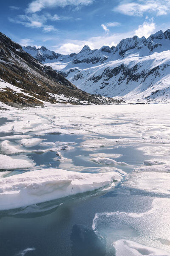
<instances>
[{"instance_id":1,"label":"whole blue sky with scattered white clouds above the mountains","mask_svg":"<svg viewBox=\"0 0 170 256\"><path fill-rule=\"evenodd\" d=\"M63 54L166 29L170 0L6 0L0 8L0 32Z\"/></svg>"}]
</instances>

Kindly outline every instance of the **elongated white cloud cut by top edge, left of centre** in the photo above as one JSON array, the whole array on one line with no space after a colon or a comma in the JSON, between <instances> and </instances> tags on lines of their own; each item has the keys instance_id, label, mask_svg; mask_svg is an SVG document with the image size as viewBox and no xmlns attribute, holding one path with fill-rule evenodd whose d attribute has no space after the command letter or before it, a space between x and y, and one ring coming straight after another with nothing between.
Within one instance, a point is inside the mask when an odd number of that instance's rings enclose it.
<instances>
[{"instance_id":1,"label":"elongated white cloud cut by top edge, left of centre","mask_svg":"<svg viewBox=\"0 0 170 256\"><path fill-rule=\"evenodd\" d=\"M67 5L79 6L89 5L94 0L34 0L28 5L27 12L39 12L44 8L51 8L55 6L65 7Z\"/></svg>"}]
</instances>

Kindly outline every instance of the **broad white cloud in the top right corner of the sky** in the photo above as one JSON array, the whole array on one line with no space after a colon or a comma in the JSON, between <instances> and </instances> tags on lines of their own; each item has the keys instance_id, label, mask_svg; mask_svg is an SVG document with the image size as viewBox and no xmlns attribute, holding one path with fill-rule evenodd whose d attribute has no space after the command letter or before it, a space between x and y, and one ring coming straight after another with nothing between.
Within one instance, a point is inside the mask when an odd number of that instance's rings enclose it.
<instances>
[{"instance_id":1,"label":"broad white cloud in the top right corner of the sky","mask_svg":"<svg viewBox=\"0 0 170 256\"><path fill-rule=\"evenodd\" d=\"M113 10L129 16L143 16L144 12L156 12L157 16L166 15L170 8L169 0L141 0L140 3L126 3Z\"/></svg>"}]
</instances>

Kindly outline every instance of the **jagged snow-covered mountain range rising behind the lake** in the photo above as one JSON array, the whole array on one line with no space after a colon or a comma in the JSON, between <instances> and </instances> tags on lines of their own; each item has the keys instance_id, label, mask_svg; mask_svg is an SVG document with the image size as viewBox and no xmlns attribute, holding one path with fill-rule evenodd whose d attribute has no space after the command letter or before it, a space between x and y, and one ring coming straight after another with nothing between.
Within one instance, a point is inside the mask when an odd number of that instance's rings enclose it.
<instances>
[{"instance_id":1,"label":"jagged snow-covered mountain range rising behind the lake","mask_svg":"<svg viewBox=\"0 0 170 256\"><path fill-rule=\"evenodd\" d=\"M59 71L88 93L125 101L170 101L170 29L149 38L126 38L116 47L61 55L45 47L24 47L34 58Z\"/></svg>"}]
</instances>

